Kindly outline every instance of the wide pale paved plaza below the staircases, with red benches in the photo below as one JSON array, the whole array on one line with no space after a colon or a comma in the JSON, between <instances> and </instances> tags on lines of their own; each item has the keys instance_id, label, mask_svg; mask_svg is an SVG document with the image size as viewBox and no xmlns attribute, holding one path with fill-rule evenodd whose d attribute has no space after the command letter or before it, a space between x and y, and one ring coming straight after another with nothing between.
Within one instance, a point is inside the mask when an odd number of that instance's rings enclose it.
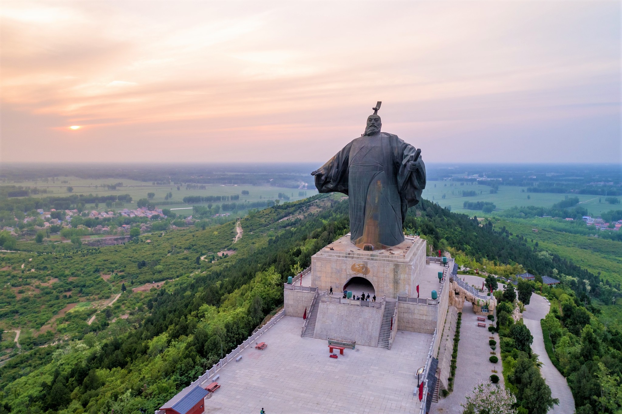
<instances>
[{"instance_id":1,"label":"wide pale paved plaza below the staircases, with red benches","mask_svg":"<svg viewBox=\"0 0 622 414\"><path fill-rule=\"evenodd\" d=\"M397 331L391 351L356 346L333 359L327 341L300 338L302 323L284 316L261 336L264 351L248 347L218 371L221 388L205 400L205 412L419 413L414 373L431 334Z\"/></svg>"}]
</instances>

